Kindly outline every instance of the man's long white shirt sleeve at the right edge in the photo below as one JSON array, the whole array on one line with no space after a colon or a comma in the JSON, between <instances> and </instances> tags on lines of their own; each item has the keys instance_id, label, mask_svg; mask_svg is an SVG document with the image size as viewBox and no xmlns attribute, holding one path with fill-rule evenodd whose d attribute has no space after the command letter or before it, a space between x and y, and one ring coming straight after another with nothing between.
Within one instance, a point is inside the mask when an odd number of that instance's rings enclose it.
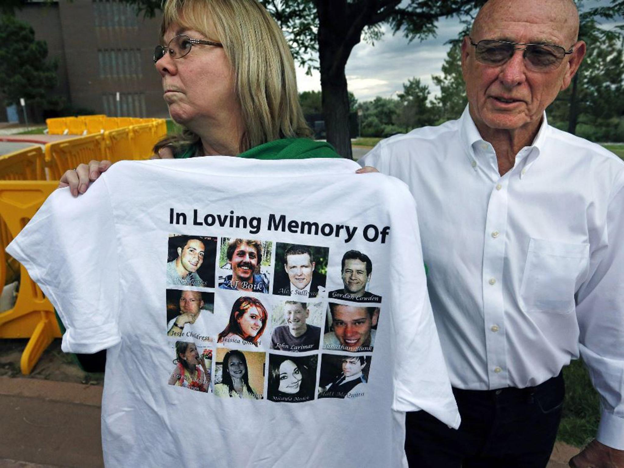
<instances>
[{"instance_id":1,"label":"man's long white shirt sleeve at the right edge","mask_svg":"<svg viewBox=\"0 0 624 468\"><path fill-rule=\"evenodd\" d=\"M624 175L577 295L580 353L600 394L598 441L624 449Z\"/></svg>"}]
</instances>

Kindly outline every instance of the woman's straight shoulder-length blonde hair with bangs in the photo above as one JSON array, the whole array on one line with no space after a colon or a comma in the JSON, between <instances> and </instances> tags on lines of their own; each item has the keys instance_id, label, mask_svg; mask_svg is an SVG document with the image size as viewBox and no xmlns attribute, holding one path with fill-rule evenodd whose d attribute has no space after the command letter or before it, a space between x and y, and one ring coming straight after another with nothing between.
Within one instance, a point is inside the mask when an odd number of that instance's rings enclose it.
<instances>
[{"instance_id":1,"label":"woman's straight shoulder-length blonde hair with bangs","mask_svg":"<svg viewBox=\"0 0 624 468\"><path fill-rule=\"evenodd\" d=\"M164 0L161 37L172 24L222 42L235 72L245 125L240 152L282 138L310 137L299 104L293 57L280 27L261 4L256 0ZM200 139L185 129L181 137L165 140L179 150Z\"/></svg>"}]
</instances>

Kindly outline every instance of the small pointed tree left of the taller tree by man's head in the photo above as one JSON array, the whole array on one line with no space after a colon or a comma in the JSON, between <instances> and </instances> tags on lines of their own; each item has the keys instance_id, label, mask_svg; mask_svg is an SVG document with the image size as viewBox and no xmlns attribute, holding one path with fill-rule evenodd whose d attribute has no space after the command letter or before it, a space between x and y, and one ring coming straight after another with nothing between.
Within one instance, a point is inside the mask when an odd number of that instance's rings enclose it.
<instances>
[{"instance_id":1,"label":"small pointed tree left of the taller tree by man's head","mask_svg":"<svg viewBox=\"0 0 624 468\"><path fill-rule=\"evenodd\" d=\"M432 125L436 122L436 109L429 105L429 86L421 83L420 78L403 83L403 92L397 94L399 112L396 123L406 132L417 127Z\"/></svg>"}]
</instances>

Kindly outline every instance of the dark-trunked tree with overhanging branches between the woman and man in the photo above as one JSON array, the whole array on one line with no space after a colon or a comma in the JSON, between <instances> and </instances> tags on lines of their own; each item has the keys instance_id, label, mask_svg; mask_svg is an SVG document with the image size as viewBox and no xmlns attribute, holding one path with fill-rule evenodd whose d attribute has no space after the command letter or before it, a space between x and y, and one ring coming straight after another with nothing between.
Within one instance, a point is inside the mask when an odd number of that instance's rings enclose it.
<instances>
[{"instance_id":1,"label":"dark-trunked tree with overhanging branches between the woman and man","mask_svg":"<svg viewBox=\"0 0 624 468\"><path fill-rule=\"evenodd\" d=\"M125 0L154 15L161 0ZM436 20L462 16L485 0L260 0L285 31L296 61L321 72L327 139L351 158L349 97L344 68L361 39L374 42L384 24L412 41L436 33Z\"/></svg>"}]
</instances>

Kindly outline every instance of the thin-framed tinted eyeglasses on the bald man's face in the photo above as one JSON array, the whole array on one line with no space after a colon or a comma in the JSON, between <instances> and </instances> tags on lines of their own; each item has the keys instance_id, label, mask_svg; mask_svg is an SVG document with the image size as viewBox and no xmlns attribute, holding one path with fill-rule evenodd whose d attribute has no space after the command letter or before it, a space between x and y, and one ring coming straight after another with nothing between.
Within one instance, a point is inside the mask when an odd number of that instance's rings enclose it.
<instances>
[{"instance_id":1,"label":"thin-framed tinted eyeglasses on the bald man's face","mask_svg":"<svg viewBox=\"0 0 624 468\"><path fill-rule=\"evenodd\" d=\"M476 57L485 65L498 66L507 62L515 51L524 51L524 61L529 70L544 72L553 70L561 65L563 57L572 54L573 47L566 51L561 46L552 44L526 44L524 42L484 41L474 42L469 37L470 44L475 47ZM522 47L518 47L522 46Z\"/></svg>"}]
</instances>

